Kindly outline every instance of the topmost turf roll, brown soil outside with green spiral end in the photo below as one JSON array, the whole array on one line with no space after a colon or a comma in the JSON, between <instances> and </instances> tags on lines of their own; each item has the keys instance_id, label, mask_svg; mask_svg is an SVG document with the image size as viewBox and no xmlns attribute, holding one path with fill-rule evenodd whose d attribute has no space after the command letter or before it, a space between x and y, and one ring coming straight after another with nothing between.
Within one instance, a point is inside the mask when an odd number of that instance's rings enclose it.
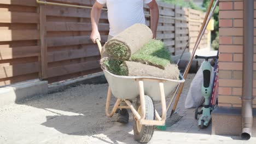
<instances>
[{"instance_id":1,"label":"topmost turf roll, brown soil outside with green spiral end","mask_svg":"<svg viewBox=\"0 0 256 144\"><path fill-rule=\"evenodd\" d=\"M104 45L108 55L126 61L153 38L151 29L136 23L113 37Z\"/></svg>"}]
</instances>

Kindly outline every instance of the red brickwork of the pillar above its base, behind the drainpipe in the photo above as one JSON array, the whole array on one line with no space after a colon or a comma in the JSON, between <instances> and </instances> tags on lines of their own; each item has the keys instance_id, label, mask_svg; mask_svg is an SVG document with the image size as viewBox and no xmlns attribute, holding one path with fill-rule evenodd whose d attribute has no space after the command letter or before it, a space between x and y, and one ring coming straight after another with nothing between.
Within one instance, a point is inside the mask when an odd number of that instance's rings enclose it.
<instances>
[{"instance_id":1,"label":"red brickwork of the pillar above its base, behind the drainpipe","mask_svg":"<svg viewBox=\"0 0 256 144\"><path fill-rule=\"evenodd\" d=\"M254 1L254 9L256 1ZM256 16L254 10L254 17ZM219 2L219 106L241 107L243 61L243 1ZM254 19L254 27L256 27ZM256 31L254 28L254 35ZM254 41L256 41L254 37ZM255 42L254 42L255 43ZM256 53L254 45L254 53ZM256 55L254 54L254 62ZM253 96L256 96L254 63ZM256 100L253 101L256 107Z\"/></svg>"}]
</instances>

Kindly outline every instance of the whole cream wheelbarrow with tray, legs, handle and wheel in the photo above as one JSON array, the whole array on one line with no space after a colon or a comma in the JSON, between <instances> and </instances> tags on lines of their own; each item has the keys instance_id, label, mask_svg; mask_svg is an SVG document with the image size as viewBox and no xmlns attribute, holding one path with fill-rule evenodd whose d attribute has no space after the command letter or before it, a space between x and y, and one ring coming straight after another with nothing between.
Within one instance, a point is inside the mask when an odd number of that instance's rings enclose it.
<instances>
[{"instance_id":1,"label":"whole cream wheelbarrow with tray, legs, handle and wheel","mask_svg":"<svg viewBox=\"0 0 256 144\"><path fill-rule=\"evenodd\" d=\"M100 40L96 39L96 43L101 53ZM165 97L171 94L179 83L185 82L183 76L179 75L179 80L170 80L148 76L120 76L109 73L103 68L102 70L109 84L106 115L112 117L117 109L131 109L134 115L135 140L141 143L149 142L154 133L154 125L165 125L167 112ZM112 94L117 101L109 113ZM136 100L135 106L132 105L132 100ZM155 110L154 101L161 101L161 116Z\"/></svg>"}]
</instances>

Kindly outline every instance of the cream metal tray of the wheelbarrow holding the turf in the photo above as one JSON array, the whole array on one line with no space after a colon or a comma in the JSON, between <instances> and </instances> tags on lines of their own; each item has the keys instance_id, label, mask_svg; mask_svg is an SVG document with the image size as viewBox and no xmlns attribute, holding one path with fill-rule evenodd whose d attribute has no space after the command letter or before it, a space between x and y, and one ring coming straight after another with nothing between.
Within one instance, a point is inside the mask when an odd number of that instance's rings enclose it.
<instances>
[{"instance_id":1,"label":"cream metal tray of the wheelbarrow holding the turf","mask_svg":"<svg viewBox=\"0 0 256 144\"><path fill-rule=\"evenodd\" d=\"M160 81L164 83L166 96L171 94L179 83L185 82L181 74L179 75L179 80L170 80L149 76L120 76L109 73L109 71L104 69L103 72L108 81L112 94L114 97L119 99L136 99L139 95L138 80L143 80L144 82L145 95L148 95L155 101L161 100L160 91L158 88Z\"/></svg>"}]
</instances>

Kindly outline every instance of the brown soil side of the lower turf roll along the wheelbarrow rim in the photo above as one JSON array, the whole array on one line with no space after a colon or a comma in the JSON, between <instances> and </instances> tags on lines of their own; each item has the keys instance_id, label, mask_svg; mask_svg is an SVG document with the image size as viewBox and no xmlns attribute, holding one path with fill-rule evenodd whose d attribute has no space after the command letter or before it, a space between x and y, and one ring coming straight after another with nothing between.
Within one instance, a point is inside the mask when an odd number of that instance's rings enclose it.
<instances>
[{"instance_id":1,"label":"brown soil side of the lower turf roll along the wheelbarrow rim","mask_svg":"<svg viewBox=\"0 0 256 144\"><path fill-rule=\"evenodd\" d=\"M179 80L179 69L176 64L169 64L165 69L139 62L124 61L120 66L121 73L127 76L153 76L164 79Z\"/></svg>"}]
</instances>

